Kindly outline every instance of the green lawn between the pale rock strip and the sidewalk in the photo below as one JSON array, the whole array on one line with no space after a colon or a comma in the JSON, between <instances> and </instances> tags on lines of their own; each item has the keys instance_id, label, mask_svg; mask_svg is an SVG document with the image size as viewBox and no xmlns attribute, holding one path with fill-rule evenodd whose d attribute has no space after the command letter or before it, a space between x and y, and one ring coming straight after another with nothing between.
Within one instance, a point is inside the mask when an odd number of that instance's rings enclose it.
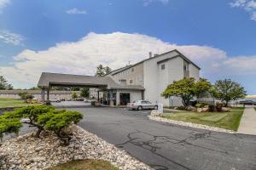
<instances>
[{"instance_id":1,"label":"green lawn between the pale rock strip and the sidewalk","mask_svg":"<svg viewBox=\"0 0 256 170\"><path fill-rule=\"evenodd\" d=\"M237 131L244 108L233 108L230 112L218 113L196 113L184 111L182 113L166 114L167 119L194 122L198 124L208 125L212 127L221 127L229 130Z\"/></svg>"}]
</instances>

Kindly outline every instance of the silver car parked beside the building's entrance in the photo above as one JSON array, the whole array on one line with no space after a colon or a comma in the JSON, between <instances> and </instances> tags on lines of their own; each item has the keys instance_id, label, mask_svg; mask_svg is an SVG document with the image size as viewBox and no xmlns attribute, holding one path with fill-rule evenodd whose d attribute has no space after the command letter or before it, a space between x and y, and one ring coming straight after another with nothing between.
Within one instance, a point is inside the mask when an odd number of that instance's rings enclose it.
<instances>
[{"instance_id":1,"label":"silver car parked beside the building's entrance","mask_svg":"<svg viewBox=\"0 0 256 170\"><path fill-rule=\"evenodd\" d=\"M143 109L154 109L157 110L158 106L152 104L148 100L137 100L127 105L128 109L142 111Z\"/></svg>"}]
</instances>

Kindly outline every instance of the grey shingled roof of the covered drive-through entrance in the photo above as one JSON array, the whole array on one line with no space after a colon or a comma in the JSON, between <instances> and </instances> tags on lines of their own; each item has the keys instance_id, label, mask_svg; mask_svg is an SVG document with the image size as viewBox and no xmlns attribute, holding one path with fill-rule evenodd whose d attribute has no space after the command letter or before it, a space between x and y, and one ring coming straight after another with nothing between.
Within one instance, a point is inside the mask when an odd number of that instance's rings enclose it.
<instances>
[{"instance_id":1,"label":"grey shingled roof of the covered drive-through entrance","mask_svg":"<svg viewBox=\"0 0 256 170\"><path fill-rule=\"evenodd\" d=\"M51 86L144 90L143 86L120 85L117 82L114 82L111 77L93 77L42 72L38 82L38 87L49 88Z\"/></svg>"}]
</instances>

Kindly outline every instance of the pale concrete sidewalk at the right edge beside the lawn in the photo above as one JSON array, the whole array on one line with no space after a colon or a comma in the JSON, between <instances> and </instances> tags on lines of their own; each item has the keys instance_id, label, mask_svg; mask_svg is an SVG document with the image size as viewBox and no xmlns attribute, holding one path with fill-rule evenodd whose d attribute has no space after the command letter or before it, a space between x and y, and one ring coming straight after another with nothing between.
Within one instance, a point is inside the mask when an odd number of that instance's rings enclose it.
<instances>
[{"instance_id":1,"label":"pale concrete sidewalk at the right edge beside the lawn","mask_svg":"<svg viewBox=\"0 0 256 170\"><path fill-rule=\"evenodd\" d=\"M256 111L253 107L245 108L237 133L256 135Z\"/></svg>"}]
</instances>

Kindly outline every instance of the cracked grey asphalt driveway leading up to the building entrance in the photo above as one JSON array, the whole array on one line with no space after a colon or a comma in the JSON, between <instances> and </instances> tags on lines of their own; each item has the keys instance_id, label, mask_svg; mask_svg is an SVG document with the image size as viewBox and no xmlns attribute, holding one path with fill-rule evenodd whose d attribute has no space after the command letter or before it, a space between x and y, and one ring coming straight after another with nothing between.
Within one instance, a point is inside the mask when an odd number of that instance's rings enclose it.
<instances>
[{"instance_id":1,"label":"cracked grey asphalt driveway leading up to the building entrance","mask_svg":"<svg viewBox=\"0 0 256 170\"><path fill-rule=\"evenodd\" d=\"M256 169L256 136L217 133L148 120L149 111L77 108L91 133L155 169Z\"/></svg>"}]
</instances>

